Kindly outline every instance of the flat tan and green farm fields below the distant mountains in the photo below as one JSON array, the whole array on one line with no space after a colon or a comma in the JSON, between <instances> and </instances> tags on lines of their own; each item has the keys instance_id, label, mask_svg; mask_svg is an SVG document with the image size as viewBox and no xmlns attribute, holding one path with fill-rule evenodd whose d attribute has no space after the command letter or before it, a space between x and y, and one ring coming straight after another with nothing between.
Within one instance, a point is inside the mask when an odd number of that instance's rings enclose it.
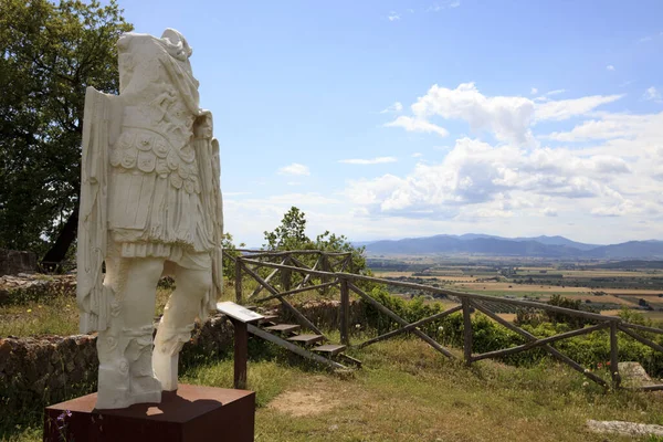
<instances>
[{"instance_id":1,"label":"flat tan and green farm fields below the distant mountains","mask_svg":"<svg viewBox=\"0 0 663 442\"><path fill-rule=\"evenodd\" d=\"M620 308L638 309L645 317L663 322L663 270L601 269L602 263L517 262L504 259L477 259L457 262L435 256L389 256L369 266L375 276L434 285L450 291L482 295L529 298L547 302L554 295L579 299L588 307L617 315ZM392 266L390 269L389 266ZM393 288L397 294L417 294ZM403 293L404 292L404 293ZM501 313L513 320L513 313Z\"/></svg>"}]
</instances>

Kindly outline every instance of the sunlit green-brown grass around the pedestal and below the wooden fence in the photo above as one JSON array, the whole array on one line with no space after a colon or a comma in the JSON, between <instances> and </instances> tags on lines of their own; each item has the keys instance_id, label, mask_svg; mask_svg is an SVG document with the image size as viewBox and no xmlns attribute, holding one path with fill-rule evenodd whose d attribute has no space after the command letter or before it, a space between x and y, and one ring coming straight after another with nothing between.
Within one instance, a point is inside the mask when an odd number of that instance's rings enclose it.
<instances>
[{"instance_id":1,"label":"sunlit green-brown grass around the pedestal and below the wooden fence","mask_svg":"<svg viewBox=\"0 0 663 442\"><path fill-rule=\"evenodd\" d=\"M523 369L483 361L466 368L414 339L351 354L364 368L340 377L266 344L253 345L249 388L257 398L255 440L604 441L606 435L585 430L588 419L663 423L659 396L606 393L558 366ZM207 360L180 379L231 388L232 360ZM39 440L40 431L35 422L9 440Z\"/></svg>"}]
</instances>

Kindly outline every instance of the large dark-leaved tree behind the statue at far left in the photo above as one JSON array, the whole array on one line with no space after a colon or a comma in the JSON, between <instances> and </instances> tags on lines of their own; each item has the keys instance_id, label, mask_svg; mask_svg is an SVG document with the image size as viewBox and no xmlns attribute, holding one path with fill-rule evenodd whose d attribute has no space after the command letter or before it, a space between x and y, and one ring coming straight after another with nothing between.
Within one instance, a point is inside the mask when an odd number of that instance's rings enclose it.
<instances>
[{"instance_id":1,"label":"large dark-leaved tree behind the statue at far left","mask_svg":"<svg viewBox=\"0 0 663 442\"><path fill-rule=\"evenodd\" d=\"M60 262L76 238L85 88L117 93L115 0L0 0L0 248Z\"/></svg>"}]
</instances>

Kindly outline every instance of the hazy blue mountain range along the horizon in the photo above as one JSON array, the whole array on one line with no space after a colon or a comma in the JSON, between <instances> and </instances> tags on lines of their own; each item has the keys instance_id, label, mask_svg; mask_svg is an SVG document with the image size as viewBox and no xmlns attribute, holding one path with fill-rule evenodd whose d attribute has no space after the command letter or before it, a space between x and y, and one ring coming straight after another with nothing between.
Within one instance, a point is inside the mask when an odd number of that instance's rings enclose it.
<instances>
[{"instance_id":1,"label":"hazy blue mountain range along the horizon","mask_svg":"<svg viewBox=\"0 0 663 442\"><path fill-rule=\"evenodd\" d=\"M599 245L571 241L564 236L502 238L487 234L439 234L427 238L382 240L356 243L369 254L476 254L588 260L660 260L663 241L629 241Z\"/></svg>"}]
</instances>

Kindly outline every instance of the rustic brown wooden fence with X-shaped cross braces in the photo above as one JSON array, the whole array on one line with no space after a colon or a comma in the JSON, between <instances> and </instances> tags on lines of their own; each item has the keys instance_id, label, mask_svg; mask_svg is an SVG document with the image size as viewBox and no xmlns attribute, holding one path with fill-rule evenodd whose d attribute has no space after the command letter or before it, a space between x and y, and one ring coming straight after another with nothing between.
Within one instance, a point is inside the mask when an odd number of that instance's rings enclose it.
<instances>
[{"instance_id":1,"label":"rustic brown wooden fence with X-shaped cross braces","mask_svg":"<svg viewBox=\"0 0 663 442\"><path fill-rule=\"evenodd\" d=\"M618 348L618 333L621 332L631 338L651 347L656 351L663 352L663 346L648 337L643 336L642 333L650 334L663 334L663 329L646 327L636 324L630 324L622 320L619 317L614 316L606 316L590 312L576 311L559 306L554 306L549 304L544 304L534 301L525 301L525 299L513 299L513 298L502 298L495 296L480 295L473 293L465 292L456 292L450 291L445 288L432 287L429 285L401 282L401 281L392 281L392 280L383 280L372 276L366 276L360 274L354 274L351 272L351 254L350 253L334 253L334 252L325 252L325 251L287 251L287 252L264 252L264 251L241 251L242 254L240 256L227 256L234 261L235 263L235 295L238 303L262 303L270 299L278 299L283 307L290 311L294 317L301 323L301 325L316 332L322 335L322 332L311 322L308 320L302 313L299 313L291 303L286 301L286 297L293 295L295 293L302 293L305 291L313 290L326 290L330 286L338 286L340 292L340 312L339 312L339 327L340 327L340 340L341 344L352 346L352 347L366 347L368 345L389 339L393 336L411 333L414 336L418 336L423 341L429 344L432 348L434 348L440 354L454 358L455 356L445 347L443 347L440 343L433 339L431 336L423 333L420 327L432 323L434 320L441 319L452 313L462 312L463 314L463 359L465 364L471 365L472 362L488 359L488 358L498 358L509 355L515 355L522 351L527 351L533 348L541 348L549 352L551 356L560 360L561 362L568 365L573 370L579 371L590 380L596 383L599 383L606 388L619 388L621 382L621 376L619 373L619 348ZM302 262L297 256L307 255L307 256L317 256L314 265L306 265ZM278 262L274 262L278 261ZM272 269L272 272L266 277L262 277L259 275L257 270L261 267ZM280 286L282 291L278 291L274 284L271 284L271 281L274 280L275 275L281 272L280 277ZM243 274L248 274L252 278L254 278L259 286L255 288L248 298L243 298L242 296L242 277ZM293 274L299 274L302 280L297 284L295 288L291 286L291 278ZM356 283L358 281L367 281L383 285L390 285L402 288L411 288L418 290L421 292L430 293L431 295L445 295L448 297L453 297L459 299L460 305L451 307L444 312L436 313L432 316L429 316L423 319L419 319L414 323L408 323L402 317L398 316L396 313L387 308L380 302L375 299L372 296L367 294L365 291L359 288ZM270 295L264 297L257 297L262 290L266 290ZM378 312L385 314L396 323L401 325L401 328L385 333L375 338L365 340L362 343L357 343L352 345L350 343L350 333L349 333L349 303L350 303L350 292L358 295L366 303L373 306ZM493 312L488 306L493 306L496 304L508 305L516 308L534 308L545 312L555 312L561 313L569 316L581 317L585 319L589 319L594 325L589 327L561 333L551 337L539 338L529 332L518 327L517 325L509 323L508 320L502 318L496 313ZM526 344L504 348L494 351L487 351L483 354L474 354L472 350L473 343L473 328L471 322L471 315L474 311L478 311L506 327L507 329L518 334L519 336L526 339ZM582 367L580 364L576 362L568 356L560 352L558 349L551 346L551 344L560 341L562 339L568 339L575 336L588 335L597 330L609 329L610 330L610 372L611 372L611 382L607 382L599 376L594 375L589 369ZM635 390L644 390L644 391L654 391L654 390L663 390L663 385L653 385L653 386L642 386L642 387L632 387Z\"/></svg>"}]
</instances>

